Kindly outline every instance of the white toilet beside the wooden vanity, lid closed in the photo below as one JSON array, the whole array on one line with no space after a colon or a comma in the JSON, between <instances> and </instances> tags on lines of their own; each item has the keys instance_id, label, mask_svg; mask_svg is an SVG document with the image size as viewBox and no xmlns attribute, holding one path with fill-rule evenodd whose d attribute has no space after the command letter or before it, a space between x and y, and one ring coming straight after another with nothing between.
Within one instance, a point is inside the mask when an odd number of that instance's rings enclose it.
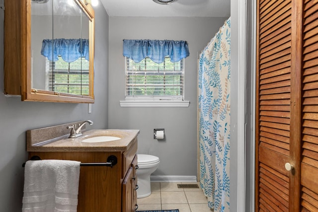
<instances>
[{"instance_id":1,"label":"white toilet beside the wooden vanity, lid closed","mask_svg":"<svg viewBox=\"0 0 318 212\"><path fill-rule=\"evenodd\" d=\"M151 195L150 175L159 165L159 157L149 154L137 154L137 198Z\"/></svg>"}]
</instances>

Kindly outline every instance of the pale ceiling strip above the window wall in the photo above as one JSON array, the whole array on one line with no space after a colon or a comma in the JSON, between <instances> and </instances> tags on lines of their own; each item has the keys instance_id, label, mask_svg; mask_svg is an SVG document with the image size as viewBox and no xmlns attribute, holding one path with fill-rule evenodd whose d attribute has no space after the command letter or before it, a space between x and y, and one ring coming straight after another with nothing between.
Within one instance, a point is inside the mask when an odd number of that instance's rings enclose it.
<instances>
[{"instance_id":1,"label":"pale ceiling strip above the window wall","mask_svg":"<svg viewBox=\"0 0 318 212\"><path fill-rule=\"evenodd\" d=\"M100 0L109 16L126 17L230 17L231 0Z\"/></svg>"}]
</instances>

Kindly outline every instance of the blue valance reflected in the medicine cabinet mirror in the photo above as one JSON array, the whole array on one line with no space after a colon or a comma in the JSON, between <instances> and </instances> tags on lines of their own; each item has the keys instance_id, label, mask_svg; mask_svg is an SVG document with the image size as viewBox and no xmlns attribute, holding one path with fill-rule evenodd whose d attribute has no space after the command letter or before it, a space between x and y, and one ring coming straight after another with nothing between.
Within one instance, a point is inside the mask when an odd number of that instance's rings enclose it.
<instances>
[{"instance_id":1,"label":"blue valance reflected in the medicine cabinet mirror","mask_svg":"<svg viewBox=\"0 0 318 212\"><path fill-rule=\"evenodd\" d=\"M45 39L42 43L41 54L49 61L58 61L61 55L65 62L72 63L80 57L89 61L88 39Z\"/></svg>"}]
</instances>

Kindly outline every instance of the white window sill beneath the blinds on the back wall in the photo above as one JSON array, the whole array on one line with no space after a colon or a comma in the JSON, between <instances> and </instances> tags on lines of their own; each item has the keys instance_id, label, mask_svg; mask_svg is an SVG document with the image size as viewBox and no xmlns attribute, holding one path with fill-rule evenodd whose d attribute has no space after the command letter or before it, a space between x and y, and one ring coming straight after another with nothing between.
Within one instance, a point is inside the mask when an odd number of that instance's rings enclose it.
<instances>
[{"instance_id":1,"label":"white window sill beneath the blinds on the back wall","mask_svg":"<svg viewBox=\"0 0 318 212\"><path fill-rule=\"evenodd\" d=\"M189 101L120 101L120 107L189 107Z\"/></svg>"}]
</instances>

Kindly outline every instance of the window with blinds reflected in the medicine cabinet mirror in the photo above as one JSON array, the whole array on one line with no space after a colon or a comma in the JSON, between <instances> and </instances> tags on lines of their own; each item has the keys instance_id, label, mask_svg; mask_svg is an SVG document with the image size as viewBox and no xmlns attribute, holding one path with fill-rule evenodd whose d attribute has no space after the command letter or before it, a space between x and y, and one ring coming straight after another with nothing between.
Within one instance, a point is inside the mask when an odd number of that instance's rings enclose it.
<instances>
[{"instance_id":1,"label":"window with blinds reflected in the medicine cabinet mirror","mask_svg":"<svg viewBox=\"0 0 318 212\"><path fill-rule=\"evenodd\" d=\"M48 90L77 95L89 95L89 62L85 58L68 63L61 56L49 61Z\"/></svg>"}]
</instances>

